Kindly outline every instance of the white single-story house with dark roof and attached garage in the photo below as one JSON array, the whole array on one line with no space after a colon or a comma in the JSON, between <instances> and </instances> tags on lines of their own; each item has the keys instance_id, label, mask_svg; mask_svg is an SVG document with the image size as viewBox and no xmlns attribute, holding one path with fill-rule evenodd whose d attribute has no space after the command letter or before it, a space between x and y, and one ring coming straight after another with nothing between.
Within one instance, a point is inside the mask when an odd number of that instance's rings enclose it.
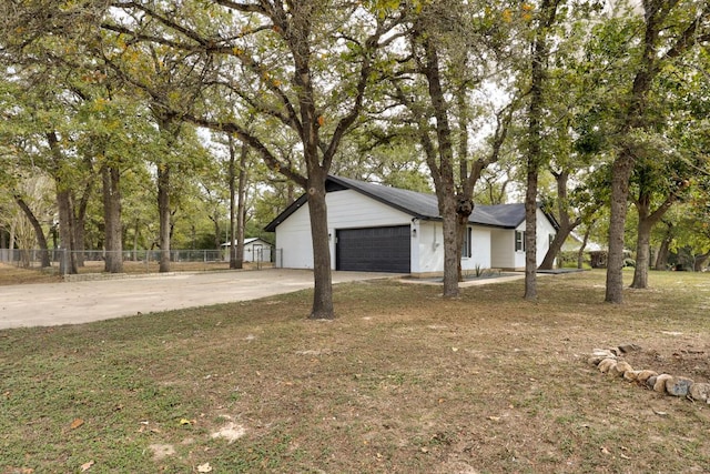
<instances>
[{"instance_id":1,"label":"white single-story house with dark roof and attached garage","mask_svg":"<svg viewBox=\"0 0 710 474\"><path fill-rule=\"evenodd\" d=\"M409 273L444 271L443 228L437 199L346 178L326 180L333 270ZM545 258L557 222L538 208L537 263ZM276 233L280 266L313 268L307 196L265 228ZM476 205L466 232L462 269L525 269L525 205Z\"/></svg>"}]
</instances>

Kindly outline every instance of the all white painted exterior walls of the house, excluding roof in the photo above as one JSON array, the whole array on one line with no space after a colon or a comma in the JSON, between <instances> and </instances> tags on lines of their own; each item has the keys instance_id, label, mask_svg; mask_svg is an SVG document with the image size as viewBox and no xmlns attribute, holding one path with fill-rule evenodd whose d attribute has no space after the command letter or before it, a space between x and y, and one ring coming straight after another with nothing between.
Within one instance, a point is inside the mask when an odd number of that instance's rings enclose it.
<instances>
[{"instance_id":1,"label":"all white painted exterior walls of the house, excluding roof","mask_svg":"<svg viewBox=\"0 0 710 474\"><path fill-rule=\"evenodd\" d=\"M405 212L375 201L357 191L344 190L326 195L331 266L335 270L335 235L339 229L362 229L392 225L412 226L413 274L444 271L444 233L442 222L412 219ZM538 210L538 264L549 246L555 228ZM525 230L525 222L518 226ZM313 244L308 206L304 203L276 228L276 249L283 250L283 266L313 269ZM462 259L463 270L525 269L525 252L515 251L515 230L471 225L471 256Z\"/></svg>"}]
</instances>

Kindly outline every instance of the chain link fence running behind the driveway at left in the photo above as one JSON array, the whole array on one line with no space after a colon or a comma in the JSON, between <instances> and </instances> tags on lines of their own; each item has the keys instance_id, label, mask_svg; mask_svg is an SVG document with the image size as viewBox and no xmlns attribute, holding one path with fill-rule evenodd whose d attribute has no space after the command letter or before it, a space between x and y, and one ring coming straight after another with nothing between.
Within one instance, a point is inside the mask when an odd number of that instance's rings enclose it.
<instances>
[{"instance_id":1,"label":"chain link fence running behind the driveway at left","mask_svg":"<svg viewBox=\"0 0 710 474\"><path fill-rule=\"evenodd\" d=\"M79 273L103 273L105 262L113 252L84 250L69 252L61 249L42 251L39 249L0 249L0 263L16 268L37 270L47 273L67 273L70 261L77 262ZM158 273L162 252L160 250L138 250L119 252L123 273ZM247 255L245 255L246 258ZM230 269L227 250L171 250L169 252L171 272L199 272ZM248 255L243 262L244 269L261 270L281 266L281 249L263 248Z\"/></svg>"}]
</instances>

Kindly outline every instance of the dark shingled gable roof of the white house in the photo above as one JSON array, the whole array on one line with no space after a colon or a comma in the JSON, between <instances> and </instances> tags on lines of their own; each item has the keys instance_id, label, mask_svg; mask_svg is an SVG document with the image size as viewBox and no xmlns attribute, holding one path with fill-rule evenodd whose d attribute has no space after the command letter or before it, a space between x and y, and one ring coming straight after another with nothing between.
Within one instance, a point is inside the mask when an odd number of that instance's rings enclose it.
<instances>
[{"instance_id":1,"label":"dark shingled gable roof of the white house","mask_svg":"<svg viewBox=\"0 0 710 474\"><path fill-rule=\"evenodd\" d=\"M408 191L398 188L392 188L383 184L368 183L365 181L352 180L349 178L341 178L329 175L325 183L326 192L335 192L343 190L353 190L364 194L383 204L395 208L415 219L422 220L440 220L439 206L436 195L426 194L416 191ZM304 194L293 202L284 212L278 214L276 219L270 222L264 230L274 232L276 226L285 221L291 214L296 212L298 208L307 202L307 195ZM545 215L557 229L557 221L545 212ZM515 229L525 221L525 204L496 204L483 205L476 204L474 212L468 218L468 222L476 225Z\"/></svg>"}]
</instances>

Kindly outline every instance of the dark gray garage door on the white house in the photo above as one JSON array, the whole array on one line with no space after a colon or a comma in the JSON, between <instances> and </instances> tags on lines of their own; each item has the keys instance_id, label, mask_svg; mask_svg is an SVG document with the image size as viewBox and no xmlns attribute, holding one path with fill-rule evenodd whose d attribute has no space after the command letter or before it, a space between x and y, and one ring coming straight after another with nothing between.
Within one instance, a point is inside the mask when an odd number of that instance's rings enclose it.
<instances>
[{"instance_id":1,"label":"dark gray garage door on the white house","mask_svg":"<svg viewBox=\"0 0 710 474\"><path fill-rule=\"evenodd\" d=\"M409 225L336 231L336 269L409 273Z\"/></svg>"}]
</instances>

